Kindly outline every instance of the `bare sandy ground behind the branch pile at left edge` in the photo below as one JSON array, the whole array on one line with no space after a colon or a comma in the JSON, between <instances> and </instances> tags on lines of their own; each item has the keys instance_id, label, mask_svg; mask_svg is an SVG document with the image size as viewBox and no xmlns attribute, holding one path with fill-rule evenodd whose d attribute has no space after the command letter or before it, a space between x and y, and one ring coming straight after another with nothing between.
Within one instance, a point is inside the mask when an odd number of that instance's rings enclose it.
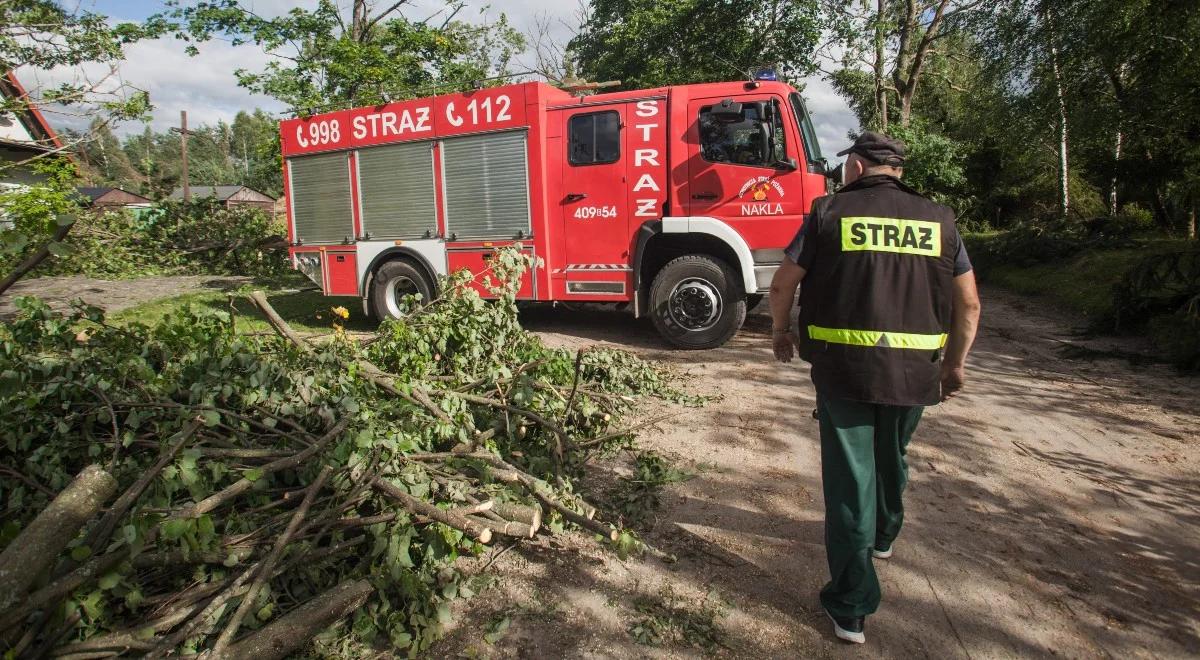
<instances>
[{"instance_id":1,"label":"bare sandy ground behind the branch pile at left edge","mask_svg":"<svg viewBox=\"0 0 1200 660\"><path fill-rule=\"evenodd\" d=\"M250 277L216 275L170 275L137 280L35 277L17 282L0 296L0 319L7 319L13 314L16 308L12 302L19 295L36 295L55 310L66 310L70 307L70 301L82 299L108 312L119 312L160 298L212 289L233 290L250 281Z\"/></svg>"}]
</instances>

